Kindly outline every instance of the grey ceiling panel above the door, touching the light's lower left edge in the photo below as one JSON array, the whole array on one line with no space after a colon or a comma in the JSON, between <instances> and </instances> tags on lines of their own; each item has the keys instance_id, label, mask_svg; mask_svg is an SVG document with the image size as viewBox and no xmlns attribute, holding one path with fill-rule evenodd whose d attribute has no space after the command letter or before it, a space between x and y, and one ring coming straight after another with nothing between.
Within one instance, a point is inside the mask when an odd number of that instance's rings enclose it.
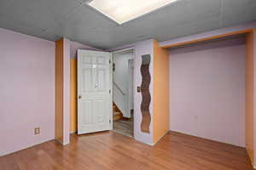
<instances>
[{"instance_id":1,"label":"grey ceiling panel above the door, touching the light's lower left edge","mask_svg":"<svg viewBox=\"0 0 256 170\"><path fill-rule=\"evenodd\" d=\"M63 17L56 26L49 28L49 31L58 32L57 35L63 35L73 41L101 48L103 44L109 43L109 31L115 26L116 23L102 17L102 14L86 4L81 4Z\"/></svg>"}]
</instances>

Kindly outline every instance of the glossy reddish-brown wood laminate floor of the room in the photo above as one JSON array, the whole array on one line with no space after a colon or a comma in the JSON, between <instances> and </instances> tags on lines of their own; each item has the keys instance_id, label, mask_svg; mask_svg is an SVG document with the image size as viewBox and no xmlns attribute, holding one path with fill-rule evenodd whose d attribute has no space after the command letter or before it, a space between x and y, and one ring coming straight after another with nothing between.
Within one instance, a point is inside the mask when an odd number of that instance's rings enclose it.
<instances>
[{"instance_id":1,"label":"glossy reddish-brown wood laminate floor of the room","mask_svg":"<svg viewBox=\"0 0 256 170\"><path fill-rule=\"evenodd\" d=\"M246 150L180 133L154 147L119 133L72 135L62 146L49 141L0 157L1 170L252 170Z\"/></svg>"}]
</instances>

